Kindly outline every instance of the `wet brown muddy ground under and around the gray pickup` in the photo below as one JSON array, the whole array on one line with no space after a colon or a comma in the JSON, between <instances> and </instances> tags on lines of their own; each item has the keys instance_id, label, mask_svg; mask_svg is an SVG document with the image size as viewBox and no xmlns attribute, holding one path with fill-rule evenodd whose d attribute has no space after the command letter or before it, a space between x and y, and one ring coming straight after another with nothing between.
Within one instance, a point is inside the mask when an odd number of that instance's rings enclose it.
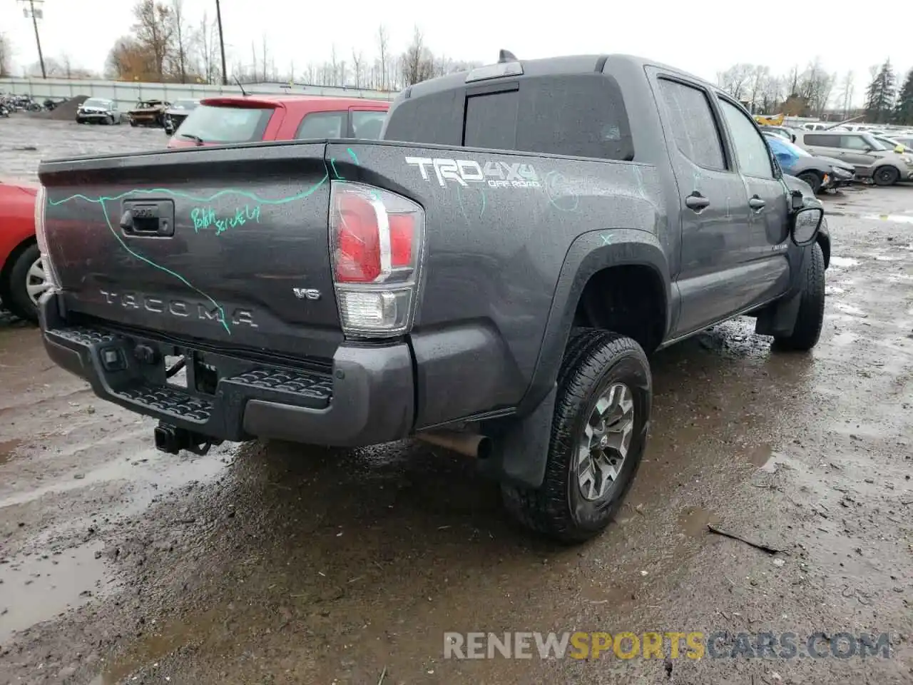
<instances>
[{"instance_id":1,"label":"wet brown muddy ground under and around the gray pickup","mask_svg":"<svg viewBox=\"0 0 913 685\"><path fill-rule=\"evenodd\" d=\"M913 187L825 203L820 344L771 352L740 319L656 354L635 487L572 549L412 442L157 453L0 323L0 683L913 682ZM473 630L891 637L888 659L443 659Z\"/></svg>"}]
</instances>

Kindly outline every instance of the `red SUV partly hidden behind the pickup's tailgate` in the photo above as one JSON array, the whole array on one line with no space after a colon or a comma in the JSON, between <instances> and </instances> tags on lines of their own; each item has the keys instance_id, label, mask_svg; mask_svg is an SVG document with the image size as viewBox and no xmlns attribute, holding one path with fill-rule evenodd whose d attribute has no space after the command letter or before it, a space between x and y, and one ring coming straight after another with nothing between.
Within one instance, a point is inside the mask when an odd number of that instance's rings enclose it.
<instances>
[{"instance_id":1,"label":"red SUV partly hidden behind the pickup's tailgate","mask_svg":"<svg viewBox=\"0 0 913 685\"><path fill-rule=\"evenodd\" d=\"M206 98L187 115L168 147L313 138L375 140L389 107L386 100L312 95Z\"/></svg>"}]
</instances>

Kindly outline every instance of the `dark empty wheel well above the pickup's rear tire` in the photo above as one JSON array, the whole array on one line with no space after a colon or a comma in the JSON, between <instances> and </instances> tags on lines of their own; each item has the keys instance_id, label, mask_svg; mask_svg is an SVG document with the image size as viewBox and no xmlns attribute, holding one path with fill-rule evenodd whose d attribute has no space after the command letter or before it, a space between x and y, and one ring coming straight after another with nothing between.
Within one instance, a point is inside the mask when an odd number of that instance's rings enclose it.
<instances>
[{"instance_id":1,"label":"dark empty wheel well above the pickup's rear tire","mask_svg":"<svg viewBox=\"0 0 913 685\"><path fill-rule=\"evenodd\" d=\"M666 293L656 271L645 266L610 267L586 282L574 325L621 333L651 353L666 333Z\"/></svg>"}]
</instances>

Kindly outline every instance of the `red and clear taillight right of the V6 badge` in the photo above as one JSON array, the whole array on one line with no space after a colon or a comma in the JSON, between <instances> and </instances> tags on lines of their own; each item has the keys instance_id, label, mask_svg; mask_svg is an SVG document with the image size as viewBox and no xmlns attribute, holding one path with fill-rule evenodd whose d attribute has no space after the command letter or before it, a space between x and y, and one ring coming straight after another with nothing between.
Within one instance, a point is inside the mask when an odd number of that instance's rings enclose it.
<instances>
[{"instance_id":1,"label":"red and clear taillight right of the V6 badge","mask_svg":"<svg viewBox=\"0 0 913 685\"><path fill-rule=\"evenodd\" d=\"M333 181L330 244L346 335L401 335L412 326L425 210L371 185Z\"/></svg>"}]
</instances>

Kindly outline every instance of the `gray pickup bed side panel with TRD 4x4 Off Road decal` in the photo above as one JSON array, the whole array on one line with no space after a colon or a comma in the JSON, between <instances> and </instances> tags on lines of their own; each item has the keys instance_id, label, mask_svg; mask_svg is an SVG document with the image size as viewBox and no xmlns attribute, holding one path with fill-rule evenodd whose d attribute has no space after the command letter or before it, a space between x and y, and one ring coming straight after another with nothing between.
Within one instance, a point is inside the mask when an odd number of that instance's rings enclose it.
<instances>
[{"instance_id":1,"label":"gray pickup bed side panel with TRD 4x4 Off Road decal","mask_svg":"<svg viewBox=\"0 0 913 685\"><path fill-rule=\"evenodd\" d=\"M611 241L621 228L667 236L659 178L645 164L396 142L331 143L327 158L340 177L426 210L416 427L519 403L576 237ZM429 404L444 386L446 402Z\"/></svg>"}]
</instances>

